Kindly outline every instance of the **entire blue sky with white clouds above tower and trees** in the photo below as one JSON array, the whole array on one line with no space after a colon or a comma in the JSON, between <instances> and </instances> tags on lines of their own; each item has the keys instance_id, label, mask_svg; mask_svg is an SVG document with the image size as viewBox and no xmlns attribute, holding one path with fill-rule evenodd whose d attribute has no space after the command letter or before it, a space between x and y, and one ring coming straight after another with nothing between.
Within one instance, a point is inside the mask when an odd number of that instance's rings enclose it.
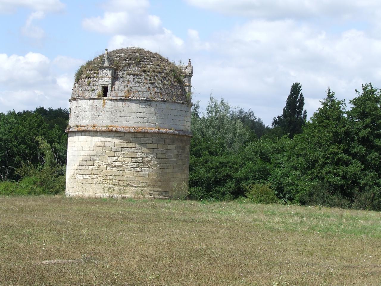
<instances>
[{"instance_id":1,"label":"entire blue sky with white clouds above tower and trees","mask_svg":"<svg viewBox=\"0 0 381 286\"><path fill-rule=\"evenodd\" d=\"M78 67L141 47L192 60L192 99L251 109L266 125L299 82L311 117L330 87L381 87L376 0L0 0L0 112L69 108Z\"/></svg>"}]
</instances>

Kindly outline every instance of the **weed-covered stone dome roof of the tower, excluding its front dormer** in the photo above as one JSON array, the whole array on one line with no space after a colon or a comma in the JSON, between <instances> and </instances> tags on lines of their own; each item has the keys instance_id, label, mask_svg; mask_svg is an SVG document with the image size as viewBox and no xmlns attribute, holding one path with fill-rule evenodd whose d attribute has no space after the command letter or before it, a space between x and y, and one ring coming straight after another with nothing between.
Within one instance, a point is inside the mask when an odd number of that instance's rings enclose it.
<instances>
[{"instance_id":1,"label":"weed-covered stone dome roof of the tower, excluding its front dormer","mask_svg":"<svg viewBox=\"0 0 381 286\"><path fill-rule=\"evenodd\" d=\"M109 51L108 56L110 61L106 62L114 69L109 98L189 103L190 96L182 76L189 73L187 67L178 66L158 53L137 47ZM104 57L100 55L78 69L71 100L102 97L99 94L98 76ZM191 67L190 63L188 67Z\"/></svg>"}]
</instances>

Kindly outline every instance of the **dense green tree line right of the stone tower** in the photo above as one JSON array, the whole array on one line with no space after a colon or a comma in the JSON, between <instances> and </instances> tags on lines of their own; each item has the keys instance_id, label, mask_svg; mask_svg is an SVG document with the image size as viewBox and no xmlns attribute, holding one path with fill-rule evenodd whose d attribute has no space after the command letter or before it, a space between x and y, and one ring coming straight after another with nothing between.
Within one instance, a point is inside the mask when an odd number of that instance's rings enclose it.
<instances>
[{"instance_id":1,"label":"dense green tree line right of the stone tower","mask_svg":"<svg viewBox=\"0 0 381 286\"><path fill-rule=\"evenodd\" d=\"M272 128L212 96L194 104L190 196L381 210L381 91L355 92L347 109L328 88L307 121L295 83Z\"/></svg>"}]
</instances>

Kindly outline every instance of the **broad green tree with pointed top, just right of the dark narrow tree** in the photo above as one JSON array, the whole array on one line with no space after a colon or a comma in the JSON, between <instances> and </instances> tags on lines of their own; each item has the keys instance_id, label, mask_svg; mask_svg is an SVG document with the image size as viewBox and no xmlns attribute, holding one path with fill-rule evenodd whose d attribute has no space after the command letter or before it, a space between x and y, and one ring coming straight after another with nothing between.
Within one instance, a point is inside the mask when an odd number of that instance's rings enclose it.
<instances>
[{"instance_id":1,"label":"broad green tree with pointed top, just right of the dark narrow tree","mask_svg":"<svg viewBox=\"0 0 381 286\"><path fill-rule=\"evenodd\" d=\"M319 184L324 188L320 192L332 199L328 205L346 206L356 190L361 165L349 150L345 102L328 88L321 104L303 133L286 145L283 141L285 151L274 162L270 181L286 201L298 201L302 193Z\"/></svg>"}]
</instances>

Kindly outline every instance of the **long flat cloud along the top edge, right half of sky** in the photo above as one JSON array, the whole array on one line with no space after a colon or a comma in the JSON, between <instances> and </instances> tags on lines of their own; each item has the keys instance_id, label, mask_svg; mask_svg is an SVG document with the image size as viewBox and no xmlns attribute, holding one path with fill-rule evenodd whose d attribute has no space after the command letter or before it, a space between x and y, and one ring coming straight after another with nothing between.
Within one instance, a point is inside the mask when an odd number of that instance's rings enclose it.
<instances>
[{"instance_id":1,"label":"long flat cloud along the top edge, right half of sky","mask_svg":"<svg viewBox=\"0 0 381 286\"><path fill-rule=\"evenodd\" d=\"M376 0L186 0L190 5L234 16L264 19L308 19L333 16L362 18L381 8Z\"/></svg>"}]
</instances>

